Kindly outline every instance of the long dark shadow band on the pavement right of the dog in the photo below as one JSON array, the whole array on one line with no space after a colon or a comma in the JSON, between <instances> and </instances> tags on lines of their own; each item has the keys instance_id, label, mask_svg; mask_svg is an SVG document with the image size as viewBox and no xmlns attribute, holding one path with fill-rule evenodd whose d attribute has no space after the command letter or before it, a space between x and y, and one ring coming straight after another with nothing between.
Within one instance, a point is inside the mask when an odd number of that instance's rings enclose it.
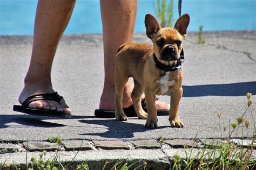
<instances>
[{"instance_id":1,"label":"long dark shadow band on the pavement right of the dog","mask_svg":"<svg viewBox=\"0 0 256 170\"><path fill-rule=\"evenodd\" d=\"M183 97L245 96L248 92L256 94L256 81L231 84L183 86Z\"/></svg>"}]
</instances>

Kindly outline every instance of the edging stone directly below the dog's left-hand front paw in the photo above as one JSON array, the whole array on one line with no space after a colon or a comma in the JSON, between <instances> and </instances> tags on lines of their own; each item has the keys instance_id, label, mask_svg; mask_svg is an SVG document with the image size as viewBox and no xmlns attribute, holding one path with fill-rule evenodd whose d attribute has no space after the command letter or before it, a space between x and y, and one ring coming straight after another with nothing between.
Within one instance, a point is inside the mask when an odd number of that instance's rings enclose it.
<instances>
[{"instance_id":1,"label":"edging stone directly below the dog's left-hand front paw","mask_svg":"<svg viewBox=\"0 0 256 170\"><path fill-rule=\"evenodd\" d=\"M146 149L153 149L153 148L161 148L160 144L157 143L157 140L149 139L149 140L134 140L130 141L135 148L146 148Z\"/></svg>"}]
</instances>

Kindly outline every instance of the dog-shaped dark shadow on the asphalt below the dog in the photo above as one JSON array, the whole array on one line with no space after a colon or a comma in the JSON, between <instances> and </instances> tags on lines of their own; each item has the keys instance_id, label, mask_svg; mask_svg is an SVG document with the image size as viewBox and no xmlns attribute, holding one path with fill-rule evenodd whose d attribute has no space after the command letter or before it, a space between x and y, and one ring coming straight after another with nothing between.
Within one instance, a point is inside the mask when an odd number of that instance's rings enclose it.
<instances>
[{"instance_id":1,"label":"dog-shaped dark shadow on the asphalt below the dog","mask_svg":"<svg viewBox=\"0 0 256 170\"><path fill-rule=\"evenodd\" d=\"M143 124L139 123L131 123L131 119L137 119L137 118L129 118L128 121L121 122L116 121L116 119L102 119L102 120L80 120L81 123L86 124L97 124L97 125L103 125L107 128L107 131L102 133L83 133L79 135L83 136L100 136L103 138L133 138L134 133L137 132L145 132L145 131L152 131L155 129L147 129L145 128L144 123L146 123L146 120L143 121ZM164 128L171 128L170 126L160 126L157 129L164 129Z\"/></svg>"}]
</instances>

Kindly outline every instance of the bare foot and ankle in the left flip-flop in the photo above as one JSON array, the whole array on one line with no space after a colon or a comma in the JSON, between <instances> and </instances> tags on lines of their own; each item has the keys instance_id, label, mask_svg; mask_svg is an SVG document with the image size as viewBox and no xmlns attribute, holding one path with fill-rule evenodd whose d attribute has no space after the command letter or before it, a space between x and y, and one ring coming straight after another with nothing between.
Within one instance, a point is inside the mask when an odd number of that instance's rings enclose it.
<instances>
[{"instance_id":1,"label":"bare foot and ankle in the left flip-flop","mask_svg":"<svg viewBox=\"0 0 256 170\"><path fill-rule=\"evenodd\" d=\"M19 103L23 104L26 98L32 95L45 93L55 93L55 91L52 89L51 83L26 83L21 95L19 95ZM28 107L31 109L56 110L65 113L71 112L71 109L69 109L68 105L66 105L63 98L60 99L59 103L53 100L33 101L28 105Z\"/></svg>"}]
</instances>

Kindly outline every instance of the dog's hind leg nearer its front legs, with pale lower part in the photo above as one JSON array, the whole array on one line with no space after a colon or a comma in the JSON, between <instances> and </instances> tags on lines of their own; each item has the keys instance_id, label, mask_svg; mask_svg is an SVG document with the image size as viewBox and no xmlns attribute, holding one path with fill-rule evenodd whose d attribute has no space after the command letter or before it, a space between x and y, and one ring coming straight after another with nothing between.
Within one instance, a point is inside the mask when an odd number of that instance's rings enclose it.
<instances>
[{"instance_id":1,"label":"dog's hind leg nearer its front legs, with pale lower part","mask_svg":"<svg viewBox=\"0 0 256 170\"><path fill-rule=\"evenodd\" d=\"M131 94L133 106L137 113L137 116L141 119L146 119L147 113L142 109L142 102L140 100L143 92L144 86L142 86L142 84L140 84L138 81L134 80L134 88Z\"/></svg>"}]
</instances>

